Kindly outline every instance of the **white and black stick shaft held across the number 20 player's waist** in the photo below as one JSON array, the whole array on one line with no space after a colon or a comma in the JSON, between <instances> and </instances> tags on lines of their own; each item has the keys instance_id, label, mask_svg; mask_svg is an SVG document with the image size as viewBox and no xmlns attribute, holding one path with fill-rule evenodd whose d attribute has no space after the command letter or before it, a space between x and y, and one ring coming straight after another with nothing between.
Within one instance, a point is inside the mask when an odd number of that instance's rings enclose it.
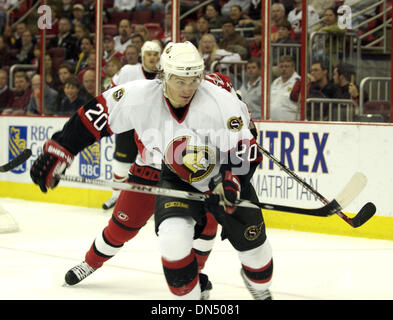
<instances>
[{"instance_id":1,"label":"white and black stick shaft held across the number 20 player's waist","mask_svg":"<svg viewBox=\"0 0 393 320\"><path fill-rule=\"evenodd\" d=\"M110 189L119 189L119 190L154 194L160 196L170 196L170 197L195 200L195 201L205 201L209 197L209 195L204 193L166 189L166 188L146 186L136 183L121 183L121 182L89 179L85 177L68 176L68 175L58 175L57 177L63 181L68 181L68 182L87 183L87 184L97 185L101 187L107 187ZM354 187L351 185L352 183L353 183L353 179L350 181L347 188L352 189ZM345 189L343 192L344 193L346 192ZM343 198L342 192L338 195L338 198L339 199ZM256 207L259 207L261 209L292 212L292 213L305 214L305 215L318 216L318 217L328 217L342 210L342 207L339 205L339 203L336 200L328 202L327 204L325 204L325 206L315 209L289 207L289 206L263 203L263 202L250 202L247 200L239 201L239 203L237 203L236 206L254 208L254 209Z\"/></svg>"}]
</instances>

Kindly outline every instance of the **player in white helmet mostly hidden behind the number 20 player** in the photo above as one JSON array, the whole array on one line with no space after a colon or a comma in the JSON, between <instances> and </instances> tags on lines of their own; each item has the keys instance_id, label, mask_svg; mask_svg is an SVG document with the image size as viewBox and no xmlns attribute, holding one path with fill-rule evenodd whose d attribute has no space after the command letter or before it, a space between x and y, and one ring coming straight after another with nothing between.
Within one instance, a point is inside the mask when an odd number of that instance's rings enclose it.
<instances>
[{"instance_id":1,"label":"player in white helmet mostly hidden behind the number 20 player","mask_svg":"<svg viewBox=\"0 0 393 320\"><path fill-rule=\"evenodd\" d=\"M158 76L158 63L161 47L154 41L146 41L141 48L142 65L126 64L113 76L111 86L124 84L133 80L155 79ZM113 181L124 182L128 177L128 170L135 161L138 148L134 142L134 130L116 135L115 152L112 169ZM120 190L114 190L111 198L104 202L103 209L111 209L119 198Z\"/></svg>"}]
</instances>

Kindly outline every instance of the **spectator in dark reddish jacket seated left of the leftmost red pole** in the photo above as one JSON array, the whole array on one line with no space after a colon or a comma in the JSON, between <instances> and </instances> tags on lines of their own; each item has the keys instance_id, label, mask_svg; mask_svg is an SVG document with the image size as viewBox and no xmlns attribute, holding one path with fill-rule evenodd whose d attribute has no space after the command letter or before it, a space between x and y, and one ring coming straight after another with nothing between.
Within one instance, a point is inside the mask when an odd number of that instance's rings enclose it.
<instances>
[{"instance_id":1,"label":"spectator in dark reddish jacket seated left of the leftmost red pole","mask_svg":"<svg viewBox=\"0 0 393 320\"><path fill-rule=\"evenodd\" d=\"M14 87L12 97L3 110L2 114L23 115L26 114L26 108L32 94L29 78L26 72L18 71L14 75Z\"/></svg>"}]
</instances>

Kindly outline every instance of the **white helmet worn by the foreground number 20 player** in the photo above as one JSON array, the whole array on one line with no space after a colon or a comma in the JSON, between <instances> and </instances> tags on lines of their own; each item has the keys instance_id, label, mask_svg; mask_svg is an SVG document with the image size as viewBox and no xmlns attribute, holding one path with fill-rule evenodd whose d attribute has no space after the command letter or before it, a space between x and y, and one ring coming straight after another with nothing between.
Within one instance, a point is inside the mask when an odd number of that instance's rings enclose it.
<instances>
[{"instance_id":1,"label":"white helmet worn by the foreground number 20 player","mask_svg":"<svg viewBox=\"0 0 393 320\"><path fill-rule=\"evenodd\" d=\"M199 51L191 42L169 42L161 54L160 68L165 80L169 80L171 75L202 78L205 64Z\"/></svg>"}]
</instances>

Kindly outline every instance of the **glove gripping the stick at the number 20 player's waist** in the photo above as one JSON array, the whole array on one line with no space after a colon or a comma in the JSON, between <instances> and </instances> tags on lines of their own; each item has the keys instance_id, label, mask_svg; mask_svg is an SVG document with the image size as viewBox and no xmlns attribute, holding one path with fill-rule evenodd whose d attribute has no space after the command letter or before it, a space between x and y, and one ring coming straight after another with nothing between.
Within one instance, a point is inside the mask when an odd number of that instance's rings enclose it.
<instances>
[{"instance_id":1,"label":"glove gripping the stick at the number 20 player's waist","mask_svg":"<svg viewBox=\"0 0 393 320\"><path fill-rule=\"evenodd\" d=\"M239 178L230 170L213 177L209 182L209 189L212 192L210 202L218 202L228 214L236 210L235 204L240 199L241 186Z\"/></svg>"}]
</instances>

